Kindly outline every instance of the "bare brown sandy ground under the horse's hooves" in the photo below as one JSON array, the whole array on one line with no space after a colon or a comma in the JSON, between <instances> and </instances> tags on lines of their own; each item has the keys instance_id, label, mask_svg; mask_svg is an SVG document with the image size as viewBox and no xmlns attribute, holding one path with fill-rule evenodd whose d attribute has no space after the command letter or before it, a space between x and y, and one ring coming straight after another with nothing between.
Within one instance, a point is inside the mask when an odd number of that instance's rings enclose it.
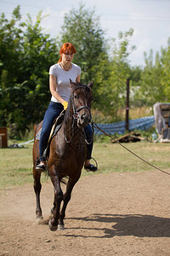
<instances>
[{"instance_id":1,"label":"bare brown sandy ground under the horse's hooves","mask_svg":"<svg viewBox=\"0 0 170 256\"><path fill-rule=\"evenodd\" d=\"M42 184L41 224L31 184L0 191L0 255L170 255L170 176L158 171L81 177L65 230L48 229L54 189Z\"/></svg>"}]
</instances>

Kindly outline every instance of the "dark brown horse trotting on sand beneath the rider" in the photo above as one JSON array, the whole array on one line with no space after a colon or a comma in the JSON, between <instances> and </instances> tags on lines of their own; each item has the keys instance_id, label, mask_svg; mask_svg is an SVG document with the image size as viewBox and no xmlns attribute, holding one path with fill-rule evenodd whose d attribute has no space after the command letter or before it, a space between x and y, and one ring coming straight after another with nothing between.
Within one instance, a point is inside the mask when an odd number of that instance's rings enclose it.
<instances>
[{"instance_id":1,"label":"dark brown horse trotting on sand beneath the rider","mask_svg":"<svg viewBox=\"0 0 170 256\"><path fill-rule=\"evenodd\" d=\"M83 128L91 121L92 83L84 85L71 82L71 98L65 113L63 124L57 135L53 137L48 155L48 175L54 184L54 207L48 225L50 230L63 230L65 209L71 200L71 191L81 176L82 166L86 159L86 142ZM40 206L41 173L36 171L39 158L39 141L36 139L37 131L42 123L37 125L35 142L33 146L33 177L34 190L37 197L37 218L42 218ZM63 195L60 182L68 177L65 195ZM63 207L60 211L60 204Z\"/></svg>"}]
</instances>

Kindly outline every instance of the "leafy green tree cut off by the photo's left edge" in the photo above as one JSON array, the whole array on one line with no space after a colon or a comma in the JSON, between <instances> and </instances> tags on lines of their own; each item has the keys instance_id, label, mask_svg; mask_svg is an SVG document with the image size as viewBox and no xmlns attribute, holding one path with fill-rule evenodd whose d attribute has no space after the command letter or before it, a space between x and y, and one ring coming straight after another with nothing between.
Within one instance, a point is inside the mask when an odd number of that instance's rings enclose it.
<instances>
[{"instance_id":1,"label":"leafy green tree cut off by the photo's left edge","mask_svg":"<svg viewBox=\"0 0 170 256\"><path fill-rule=\"evenodd\" d=\"M0 17L0 125L8 123L15 108L23 26L19 7L11 20L3 14Z\"/></svg>"}]
</instances>

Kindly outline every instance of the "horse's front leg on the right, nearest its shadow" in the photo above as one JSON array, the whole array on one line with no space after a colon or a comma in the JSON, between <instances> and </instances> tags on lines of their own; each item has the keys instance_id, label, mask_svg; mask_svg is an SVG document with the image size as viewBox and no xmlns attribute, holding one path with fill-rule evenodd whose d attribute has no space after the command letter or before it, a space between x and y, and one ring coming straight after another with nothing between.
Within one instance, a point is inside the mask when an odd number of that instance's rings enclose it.
<instances>
[{"instance_id":1,"label":"horse's front leg on the right, nearest its shadow","mask_svg":"<svg viewBox=\"0 0 170 256\"><path fill-rule=\"evenodd\" d=\"M65 229L65 224L64 224L65 210L66 210L68 202L71 200L71 192L72 192L72 189L74 188L74 185L77 183L78 179L79 179L79 177L76 180L72 180L69 177L69 180L68 180L68 183L66 186L64 199L63 199L64 200L63 207L61 209L60 216L59 216L58 230Z\"/></svg>"}]
</instances>

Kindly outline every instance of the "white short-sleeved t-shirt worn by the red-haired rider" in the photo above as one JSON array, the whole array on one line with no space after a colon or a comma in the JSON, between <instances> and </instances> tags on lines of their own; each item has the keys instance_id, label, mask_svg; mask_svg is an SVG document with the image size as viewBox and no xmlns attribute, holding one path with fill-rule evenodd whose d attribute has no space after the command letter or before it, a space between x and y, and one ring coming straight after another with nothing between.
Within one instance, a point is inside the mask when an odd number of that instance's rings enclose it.
<instances>
[{"instance_id":1,"label":"white short-sleeved t-shirt worn by the red-haired rider","mask_svg":"<svg viewBox=\"0 0 170 256\"><path fill-rule=\"evenodd\" d=\"M72 82L76 83L77 77L81 74L81 68L74 63L71 64L72 67L69 71L63 70L63 68L60 67L59 63L54 64L49 68L49 74L56 77L56 91L66 102L69 101L69 98L71 96L70 79L72 80ZM51 101L59 102L54 96L51 97Z\"/></svg>"}]
</instances>

